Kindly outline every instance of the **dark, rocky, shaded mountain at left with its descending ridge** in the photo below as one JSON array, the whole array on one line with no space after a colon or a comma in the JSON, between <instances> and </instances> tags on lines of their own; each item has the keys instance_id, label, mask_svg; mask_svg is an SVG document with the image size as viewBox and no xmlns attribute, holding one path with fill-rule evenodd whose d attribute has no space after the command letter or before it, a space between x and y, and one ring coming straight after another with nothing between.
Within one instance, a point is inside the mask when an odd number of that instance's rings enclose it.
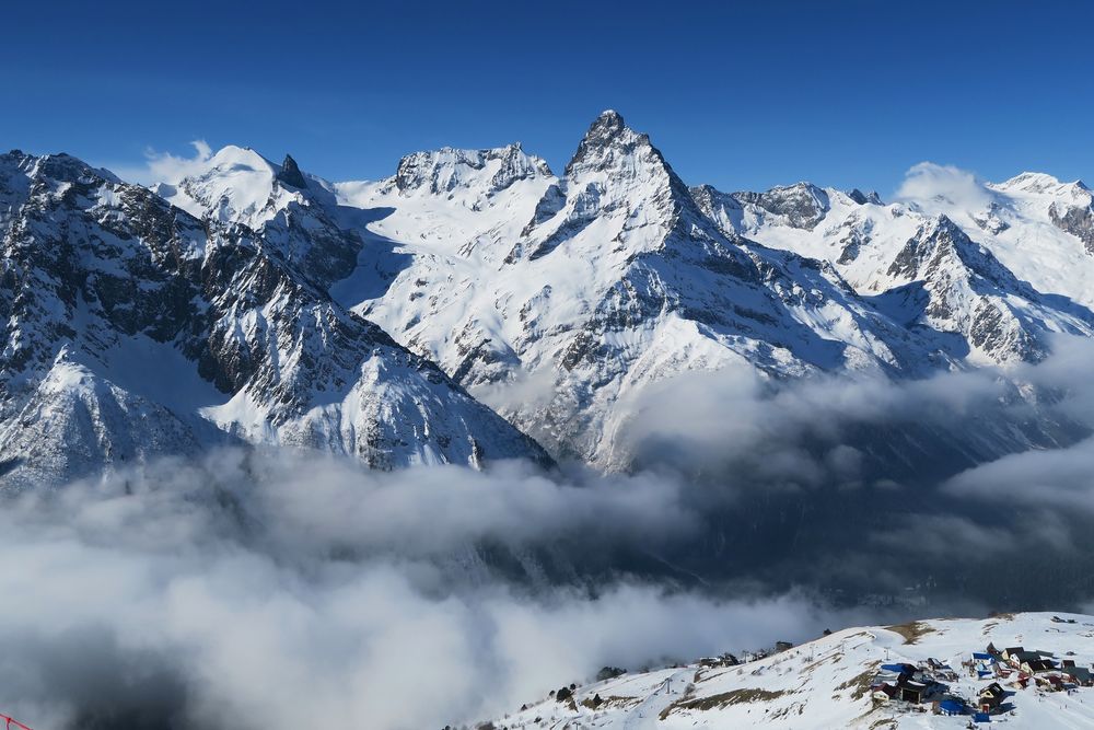
<instances>
[{"instance_id":1,"label":"dark, rocky, shaded mountain at left with its descending ridge","mask_svg":"<svg viewBox=\"0 0 1094 730\"><path fill-rule=\"evenodd\" d=\"M260 161L229 157L217 164L230 178ZM214 223L74 158L0 157L8 483L241 440L381 467L546 459L330 300L325 285L352 267L360 240L325 209L298 215L292 182Z\"/></svg>"}]
</instances>

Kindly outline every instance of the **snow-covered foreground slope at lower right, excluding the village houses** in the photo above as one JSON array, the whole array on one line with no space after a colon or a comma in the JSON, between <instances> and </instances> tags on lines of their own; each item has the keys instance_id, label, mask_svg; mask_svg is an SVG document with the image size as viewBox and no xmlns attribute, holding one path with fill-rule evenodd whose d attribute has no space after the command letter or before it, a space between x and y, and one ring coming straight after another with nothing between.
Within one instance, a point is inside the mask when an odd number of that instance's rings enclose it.
<instances>
[{"instance_id":1,"label":"snow-covered foreground slope at lower right, excluding the village houses","mask_svg":"<svg viewBox=\"0 0 1094 730\"><path fill-rule=\"evenodd\" d=\"M1074 622L1074 623L1070 623ZM705 660L686 667L627 673L578 686L572 699L529 702L524 709L492 721L505 728L965 728L974 717L934 714L931 703L878 702L871 684L883 665L930 668L928 660L953 670L946 693L976 703L992 682L1006 692L992 723L1008 728L1092 728L1094 688L1055 691L1046 673L1038 683L978 675L964 665L989 644L1002 650L1051 652L1059 664L1094 661L1094 616L1047 613L1005 614L988 619L931 619L894 627L849 628L775 653L722 667ZM1073 652L1073 653L1072 653ZM945 669L931 670L935 676ZM565 679L565 677L563 677ZM566 680L567 682L569 680ZM560 682L560 686L561 686ZM600 699L600 702L596 700ZM481 727L481 726L480 726ZM980 725L978 727L990 727Z\"/></svg>"}]
</instances>

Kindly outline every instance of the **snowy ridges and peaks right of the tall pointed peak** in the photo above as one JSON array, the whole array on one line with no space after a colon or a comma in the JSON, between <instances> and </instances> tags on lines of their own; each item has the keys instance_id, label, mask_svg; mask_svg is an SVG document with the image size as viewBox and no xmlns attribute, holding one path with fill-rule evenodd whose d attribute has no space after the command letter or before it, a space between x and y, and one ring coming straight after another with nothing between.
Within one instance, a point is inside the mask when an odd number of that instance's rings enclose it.
<instances>
[{"instance_id":1,"label":"snowy ridges and peaks right of the tall pointed peak","mask_svg":"<svg viewBox=\"0 0 1094 730\"><path fill-rule=\"evenodd\" d=\"M1027 173L961 200L889 205L808 183L693 195L722 231L833 263L878 309L944 335L939 346L973 364L1038 360L1047 334L1090 334L1094 207L1082 183Z\"/></svg>"}]
</instances>

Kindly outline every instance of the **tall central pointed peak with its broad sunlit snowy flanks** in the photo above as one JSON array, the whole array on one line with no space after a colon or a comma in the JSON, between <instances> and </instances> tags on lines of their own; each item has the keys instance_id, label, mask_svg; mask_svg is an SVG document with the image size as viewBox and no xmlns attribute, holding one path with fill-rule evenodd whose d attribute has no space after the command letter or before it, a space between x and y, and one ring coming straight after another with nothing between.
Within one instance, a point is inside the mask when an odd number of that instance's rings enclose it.
<instances>
[{"instance_id":1,"label":"tall central pointed peak with its broad sunlit snowy flanks","mask_svg":"<svg viewBox=\"0 0 1094 730\"><path fill-rule=\"evenodd\" d=\"M490 161L515 175L497 184ZM422 164L449 181L442 193L404 182ZM417 154L399 170L334 186L345 205L392 210L370 230L409 256L379 296L363 262L336 297L559 454L620 465L633 399L686 371L910 375L945 364L830 265L720 231L614 112L561 177L514 147Z\"/></svg>"}]
</instances>

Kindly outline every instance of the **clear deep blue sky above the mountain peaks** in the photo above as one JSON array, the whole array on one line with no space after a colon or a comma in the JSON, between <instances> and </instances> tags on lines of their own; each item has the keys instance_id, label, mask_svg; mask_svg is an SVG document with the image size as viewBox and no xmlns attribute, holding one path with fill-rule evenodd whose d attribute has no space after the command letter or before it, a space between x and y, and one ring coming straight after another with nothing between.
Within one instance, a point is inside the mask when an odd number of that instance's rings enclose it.
<instances>
[{"instance_id":1,"label":"clear deep blue sky above the mountain peaks","mask_svg":"<svg viewBox=\"0 0 1094 730\"><path fill-rule=\"evenodd\" d=\"M560 171L616 108L728 189L1094 177L1086 0L243 4L10 3L0 147L132 166L205 139L346 179L521 140Z\"/></svg>"}]
</instances>

